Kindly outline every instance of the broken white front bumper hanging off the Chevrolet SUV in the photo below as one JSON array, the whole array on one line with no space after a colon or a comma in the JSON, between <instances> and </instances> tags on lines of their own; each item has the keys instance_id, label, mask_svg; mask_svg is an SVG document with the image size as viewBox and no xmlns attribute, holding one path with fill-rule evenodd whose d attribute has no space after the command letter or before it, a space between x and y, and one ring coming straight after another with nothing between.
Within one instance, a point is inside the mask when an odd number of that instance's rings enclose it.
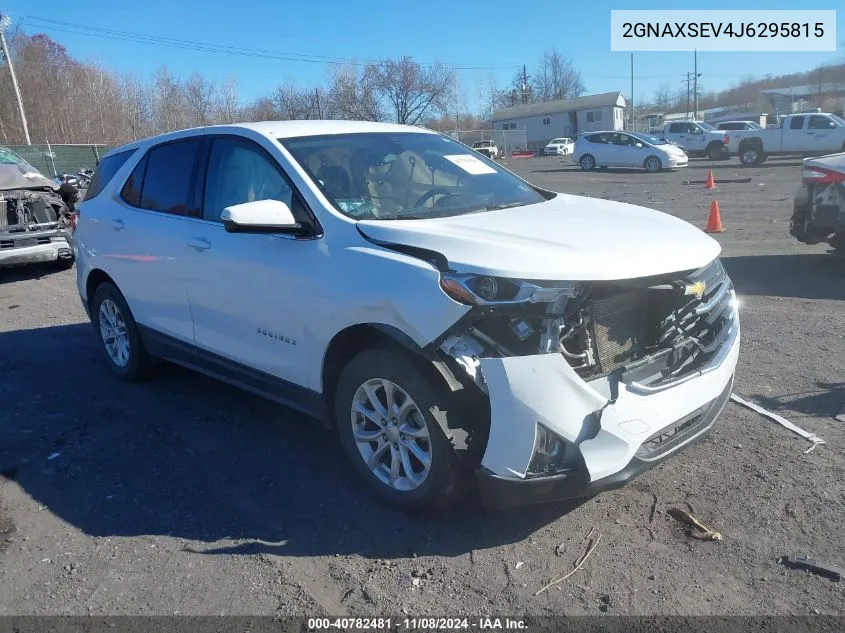
<instances>
[{"instance_id":1,"label":"broken white front bumper hanging off the Chevrolet SUV","mask_svg":"<svg viewBox=\"0 0 845 633\"><path fill-rule=\"evenodd\" d=\"M732 308L735 310L735 306ZM704 437L730 398L739 319L707 365L662 387L583 381L555 354L482 359L491 427L479 493L487 507L588 497L618 488ZM532 475L540 426L570 452L562 474Z\"/></svg>"}]
</instances>

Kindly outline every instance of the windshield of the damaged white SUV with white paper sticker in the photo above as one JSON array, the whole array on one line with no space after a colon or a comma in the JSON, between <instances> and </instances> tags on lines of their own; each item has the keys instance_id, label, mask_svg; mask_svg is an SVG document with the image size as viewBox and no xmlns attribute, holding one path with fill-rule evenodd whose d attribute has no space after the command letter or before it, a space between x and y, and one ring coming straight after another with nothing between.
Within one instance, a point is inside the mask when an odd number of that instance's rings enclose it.
<instances>
[{"instance_id":1,"label":"windshield of the damaged white SUV with white paper sticker","mask_svg":"<svg viewBox=\"0 0 845 633\"><path fill-rule=\"evenodd\" d=\"M336 209L356 220L448 217L545 200L528 183L440 134L283 138Z\"/></svg>"}]
</instances>

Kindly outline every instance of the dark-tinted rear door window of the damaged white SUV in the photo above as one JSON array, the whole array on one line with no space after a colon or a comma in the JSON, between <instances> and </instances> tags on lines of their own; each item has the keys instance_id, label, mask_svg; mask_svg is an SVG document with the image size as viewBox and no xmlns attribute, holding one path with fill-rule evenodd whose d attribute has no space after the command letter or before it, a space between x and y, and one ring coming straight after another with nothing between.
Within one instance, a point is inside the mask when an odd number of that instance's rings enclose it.
<instances>
[{"instance_id":1,"label":"dark-tinted rear door window of the damaged white SUV","mask_svg":"<svg viewBox=\"0 0 845 633\"><path fill-rule=\"evenodd\" d=\"M141 180L137 206L174 215L198 216L194 190L204 142L204 139L186 139L152 148L135 169L138 173L132 174L132 188L125 192L127 202L132 204L129 197L136 195L137 182Z\"/></svg>"}]
</instances>

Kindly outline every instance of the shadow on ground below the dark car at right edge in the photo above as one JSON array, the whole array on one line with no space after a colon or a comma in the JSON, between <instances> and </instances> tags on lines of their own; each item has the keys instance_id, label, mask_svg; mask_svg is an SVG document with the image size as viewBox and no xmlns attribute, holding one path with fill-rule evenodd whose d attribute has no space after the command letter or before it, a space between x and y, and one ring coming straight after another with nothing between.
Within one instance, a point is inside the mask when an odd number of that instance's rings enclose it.
<instances>
[{"instance_id":1,"label":"shadow on ground below the dark car at right edge","mask_svg":"<svg viewBox=\"0 0 845 633\"><path fill-rule=\"evenodd\" d=\"M845 300L845 258L837 253L723 257L736 293Z\"/></svg>"}]
</instances>

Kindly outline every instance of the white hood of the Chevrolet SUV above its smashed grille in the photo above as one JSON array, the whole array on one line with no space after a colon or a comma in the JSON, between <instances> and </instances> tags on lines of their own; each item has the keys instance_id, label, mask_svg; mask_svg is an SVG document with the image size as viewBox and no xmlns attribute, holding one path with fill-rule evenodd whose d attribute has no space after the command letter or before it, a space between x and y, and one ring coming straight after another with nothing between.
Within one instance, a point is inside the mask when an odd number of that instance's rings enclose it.
<instances>
[{"instance_id":1,"label":"white hood of the Chevrolet SUV above its smashed grille","mask_svg":"<svg viewBox=\"0 0 845 633\"><path fill-rule=\"evenodd\" d=\"M457 272L607 281L700 268L716 240L644 207L558 194L524 207L430 220L362 220L372 241L436 251Z\"/></svg>"}]
</instances>

